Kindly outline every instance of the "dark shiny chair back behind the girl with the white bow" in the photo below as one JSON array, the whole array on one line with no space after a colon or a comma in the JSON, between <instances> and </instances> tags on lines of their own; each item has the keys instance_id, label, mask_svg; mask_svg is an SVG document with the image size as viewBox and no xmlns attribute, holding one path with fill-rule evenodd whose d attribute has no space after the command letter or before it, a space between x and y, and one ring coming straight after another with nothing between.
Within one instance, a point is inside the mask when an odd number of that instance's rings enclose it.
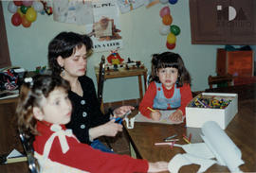
<instances>
[{"instance_id":1,"label":"dark shiny chair back behind the girl with the white bow","mask_svg":"<svg viewBox=\"0 0 256 173\"><path fill-rule=\"evenodd\" d=\"M19 129L19 136L21 139L22 146L25 150L25 153L27 155L27 164L28 169L31 173L39 173L36 159L34 158L34 149L32 147L32 143L30 143L30 140L26 137L26 134L23 130Z\"/></svg>"}]
</instances>

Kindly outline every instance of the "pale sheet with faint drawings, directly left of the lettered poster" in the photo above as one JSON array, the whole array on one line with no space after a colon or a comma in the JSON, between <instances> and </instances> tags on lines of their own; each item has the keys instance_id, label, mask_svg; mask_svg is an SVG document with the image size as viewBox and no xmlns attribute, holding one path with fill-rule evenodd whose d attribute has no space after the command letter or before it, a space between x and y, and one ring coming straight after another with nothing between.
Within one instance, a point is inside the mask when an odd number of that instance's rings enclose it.
<instances>
[{"instance_id":1,"label":"pale sheet with faint drawings, directly left of the lettered poster","mask_svg":"<svg viewBox=\"0 0 256 173\"><path fill-rule=\"evenodd\" d=\"M93 8L91 1L53 1L53 20L76 25L93 24Z\"/></svg>"}]
</instances>

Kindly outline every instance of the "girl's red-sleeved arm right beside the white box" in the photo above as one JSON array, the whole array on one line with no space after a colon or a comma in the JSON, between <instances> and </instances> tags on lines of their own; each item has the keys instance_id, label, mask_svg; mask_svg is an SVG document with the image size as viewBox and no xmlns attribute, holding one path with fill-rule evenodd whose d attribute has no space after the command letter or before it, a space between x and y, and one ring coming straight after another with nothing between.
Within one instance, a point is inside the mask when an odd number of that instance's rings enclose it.
<instances>
[{"instance_id":1,"label":"girl's red-sleeved arm right beside the white box","mask_svg":"<svg viewBox=\"0 0 256 173\"><path fill-rule=\"evenodd\" d=\"M182 112L183 116L185 116L185 108L188 103L192 100L192 90L189 84L184 84L183 87L180 88L181 95L181 105L179 110Z\"/></svg>"}]
</instances>

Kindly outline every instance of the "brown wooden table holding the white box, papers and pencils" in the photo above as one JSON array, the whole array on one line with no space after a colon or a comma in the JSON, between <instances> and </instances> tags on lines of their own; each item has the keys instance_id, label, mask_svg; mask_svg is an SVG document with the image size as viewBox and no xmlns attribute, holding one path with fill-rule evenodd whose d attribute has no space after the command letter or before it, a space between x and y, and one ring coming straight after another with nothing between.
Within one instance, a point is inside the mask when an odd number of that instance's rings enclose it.
<instances>
[{"instance_id":1,"label":"brown wooden table holding the white box, papers and pencils","mask_svg":"<svg viewBox=\"0 0 256 173\"><path fill-rule=\"evenodd\" d=\"M238 94L238 113L225 131L242 151L245 164L241 165L240 169L245 172L256 172L256 84L212 89L208 92ZM173 149L168 146L155 147L156 142L163 142L164 138L173 134L178 134L177 144L186 144L182 140L183 133L187 135L192 133L192 143L202 142L199 136L201 129L186 128L185 123L181 125L135 123L133 130L125 128L125 131L137 153L137 158L147 159L150 162L160 160L169 162L176 154L185 153L180 147ZM198 168L197 164L185 165L181 167L180 172L196 172ZM229 172L229 169L227 166L213 164L207 172Z\"/></svg>"}]
</instances>

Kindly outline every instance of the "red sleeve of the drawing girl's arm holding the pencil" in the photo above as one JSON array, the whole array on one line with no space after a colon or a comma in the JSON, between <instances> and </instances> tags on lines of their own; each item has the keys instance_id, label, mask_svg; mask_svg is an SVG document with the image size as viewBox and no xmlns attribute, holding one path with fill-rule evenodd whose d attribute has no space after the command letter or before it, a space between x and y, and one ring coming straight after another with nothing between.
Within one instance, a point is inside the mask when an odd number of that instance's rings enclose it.
<instances>
[{"instance_id":1,"label":"red sleeve of the drawing girl's arm holding the pencil","mask_svg":"<svg viewBox=\"0 0 256 173\"><path fill-rule=\"evenodd\" d=\"M139 112L148 118L151 118L150 117L151 111L147 109L147 107L153 108L155 95L156 95L155 82L151 82L138 108Z\"/></svg>"}]
</instances>

